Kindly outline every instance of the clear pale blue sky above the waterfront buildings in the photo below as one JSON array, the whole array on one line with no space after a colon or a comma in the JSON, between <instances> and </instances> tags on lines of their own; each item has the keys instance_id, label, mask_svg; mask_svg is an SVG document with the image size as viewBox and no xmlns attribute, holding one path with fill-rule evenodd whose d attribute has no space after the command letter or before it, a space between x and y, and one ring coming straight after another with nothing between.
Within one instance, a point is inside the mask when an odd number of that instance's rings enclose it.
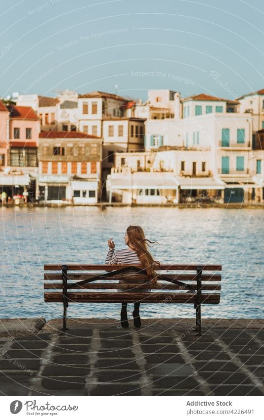
<instances>
[{"instance_id":1,"label":"clear pale blue sky above the waterfront buildings","mask_svg":"<svg viewBox=\"0 0 264 420\"><path fill-rule=\"evenodd\" d=\"M118 85L232 99L264 88L263 22L263 0L5 1L0 96Z\"/></svg>"}]
</instances>

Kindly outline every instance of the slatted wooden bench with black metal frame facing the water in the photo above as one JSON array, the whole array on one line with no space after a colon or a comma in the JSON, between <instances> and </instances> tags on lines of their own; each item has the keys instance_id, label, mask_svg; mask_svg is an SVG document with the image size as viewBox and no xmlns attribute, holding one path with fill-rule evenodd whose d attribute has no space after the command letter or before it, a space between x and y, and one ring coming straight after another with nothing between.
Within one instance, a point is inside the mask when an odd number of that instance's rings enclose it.
<instances>
[{"instance_id":1,"label":"slatted wooden bench with black metal frame facing the water","mask_svg":"<svg viewBox=\"0 0 264 420\"><path fill-rule=\"evenodd\" d=\"M109 273L110 267L112 271ZM136 269L138 273L122 275L122 271L132 269ZM201 305L220 302L220 271L220 265L163 264L158 272L161 285L161 288L158 288L148 282L145 271L138 265L47 264L44 265L44 280L51 281L44 282L44 301L63 303L64 332L67 329L69 303L191 303L196 309L195 329L201 335ZM118 283L122 277L129 279L131 283ZM133 281L138 279L144 284L133 284ZM142 291L128 292L134 288ZM148 293L144 289L151 289L151 292Z\"/></svg>"}]
</instances>

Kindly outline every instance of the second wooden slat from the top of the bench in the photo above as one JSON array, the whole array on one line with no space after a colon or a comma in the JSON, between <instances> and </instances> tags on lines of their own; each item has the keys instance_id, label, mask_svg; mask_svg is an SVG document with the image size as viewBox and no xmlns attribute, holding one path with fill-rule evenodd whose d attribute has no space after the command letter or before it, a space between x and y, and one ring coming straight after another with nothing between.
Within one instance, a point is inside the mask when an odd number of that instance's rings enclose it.
<instances>
[{"instance_id":1,"label":"second wooden slat from the top of the bench","mask_svg":"<svg viewBox=\"0 0 264 420\"><path fill-rule=\"evenodd\" d=\"M100 273L105 274L105 273ZM195 281L196 274L164 274L166 277L175 280L182 280L182 281ZM94 276L94 274L79 274L79 273L68 273L68 280L89 280ZM105 277L105 280L115 280L120 279L121 275L116 275L112 277ZM134 276L126 276L127 279L132 280L140 280L140 281L147 281L147 276L144 275L134 275ZM54 273L44 273L44 280L62 280L62 274L54 274ZM203 274L202 281L221 281L220 274Z\"/></svg>"}]
</instances>

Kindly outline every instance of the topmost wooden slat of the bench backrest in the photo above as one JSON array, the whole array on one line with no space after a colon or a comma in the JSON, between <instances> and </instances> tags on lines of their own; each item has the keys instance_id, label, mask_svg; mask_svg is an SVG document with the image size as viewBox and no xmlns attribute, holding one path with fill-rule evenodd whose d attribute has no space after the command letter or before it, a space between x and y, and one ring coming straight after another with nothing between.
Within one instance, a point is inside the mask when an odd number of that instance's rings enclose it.
<instances>
[{"instance_id":1,"label":"topmost wooden slat of the bench backrest","mask_svg":"<svg viewBox=\"0 0 264 420\"><path fill-rule=\"evenodd\" d=\"M162 264L161 270L197 270L197 267L202 267L202 270L212 270L212 271L221 271L221 265L215 264ZM120 268L124 267L130 267L130 265L112 265L112 270L118 270ZM142 268L140 265L135 265L135 267ZM100 264L100 265L94 265L94 264L68 264L67 265L68 270L105 270L109 269L109 265L107 264ZM56 271L56 270L62 270L61 264L44 264L44 271Z\"/></svg>"}]
</instances>

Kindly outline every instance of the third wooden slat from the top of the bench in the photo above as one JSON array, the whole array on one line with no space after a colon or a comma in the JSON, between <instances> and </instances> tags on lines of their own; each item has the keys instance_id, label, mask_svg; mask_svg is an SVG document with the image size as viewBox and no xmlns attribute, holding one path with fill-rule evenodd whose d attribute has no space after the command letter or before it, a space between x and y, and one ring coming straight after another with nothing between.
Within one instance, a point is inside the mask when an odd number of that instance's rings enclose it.
<instances>
[{"instance_id":1,"label":"third wooden slat from the top of the bench","mask_svg":"<svg viewBox=\"0 0 264 420\"><path fill-rule=\"evenodd\" d=\"M68 283L68 289L154 289L158 290L157 286L151 286L149 284L120 284L120 283L88 283L82 286L70 287L71 283ZM191 285L194 290L197 289L197 284ZM44 283L44 289L62 289L62 283ZM180 286L177 284L162 283L162 289L164 290L179 290ZM203 284L202 290L221 290L220 284Z\"/></svg>"}]
</instances>

